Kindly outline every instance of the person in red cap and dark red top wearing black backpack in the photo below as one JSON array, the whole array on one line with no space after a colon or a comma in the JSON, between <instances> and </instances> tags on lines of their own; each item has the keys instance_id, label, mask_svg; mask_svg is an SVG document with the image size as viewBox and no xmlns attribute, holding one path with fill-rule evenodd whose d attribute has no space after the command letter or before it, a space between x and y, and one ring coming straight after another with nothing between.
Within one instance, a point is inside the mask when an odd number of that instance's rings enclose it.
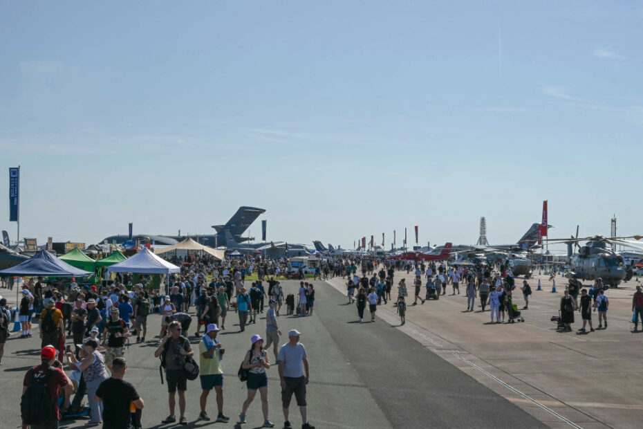
<instances>
[{"instance_id":1,"label":"person in red cap and dark red top wearing black backpack","mask_svg":"<svg viewBox=\"0 0 643 429\"><path fill-rule=\"evenodd\" d=\"M62 387L66 394L71 394L73 385L62 369L53 367L55 358L55 347L43 347L40 365L30 368L24 376L20 400L23 427L58 428L58 389Z\"/></svg>"}]
</instances>

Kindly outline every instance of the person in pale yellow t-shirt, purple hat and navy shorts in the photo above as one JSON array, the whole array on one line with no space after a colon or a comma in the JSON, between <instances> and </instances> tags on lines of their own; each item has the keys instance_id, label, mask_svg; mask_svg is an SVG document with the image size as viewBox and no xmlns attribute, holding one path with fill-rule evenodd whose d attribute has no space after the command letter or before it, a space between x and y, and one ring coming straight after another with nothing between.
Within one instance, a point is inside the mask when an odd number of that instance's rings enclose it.
<instances>
[{"instance_id":1,"label":"person in pale yellow t-shirt, purple hat and navy shorts","mask_svg":"<svg viewBox=\"0 0 643 429\"><path fill-rule=\"evenodd\" d=\"M211 323L205 329L205 335L198 343L199 353L199 378L201 380L201 397L199 398L199 405L201 405L201 412L198 414L199 420L209 420L209 416L205 411L207 403L207 396L214 388L216 393L216 421L225 423L230 420L223 414L223 369L221 369L221 360L225 349L221 347L221 343L216 339L219 328Z\"/></svg>"}]
</instances>

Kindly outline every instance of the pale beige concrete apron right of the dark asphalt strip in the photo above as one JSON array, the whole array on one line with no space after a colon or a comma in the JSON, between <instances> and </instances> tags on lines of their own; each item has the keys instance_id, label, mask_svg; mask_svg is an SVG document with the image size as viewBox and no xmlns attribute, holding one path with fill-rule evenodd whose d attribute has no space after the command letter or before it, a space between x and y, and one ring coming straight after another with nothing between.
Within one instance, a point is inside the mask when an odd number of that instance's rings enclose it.
<instances>
[{"instance_id":1,"label":"pale beige concrete apron right of the dark asphalt strip","mask_svg":"<svg viewBox=\"0 0 643 429\"><path fill-rule=\"evenodd\" d=\"M412 274L398 271L395 285L401 277L412 284ZM643 334L631 331L632 295L639 280L606 292L608 329L579 334L579 313L572 332L557 331L550 321L558 315L568 280L555 277L557 292L552 293L549 278L541 273L528 280L533 293L529 308L522 311L523 323L490 325L488 307L481 312L476 299L476 311L465 312L463 285L462 294L455 296L449 295L449 285L438 301L412 306L409 296L407 323L397 329L551 428L640 428ZM522 280L516 280L517 287ZM538 280L542 291L537 291ZM340 277L330 284L346 293L345 281ZM592 282L583 283L588 288ZM408 289L413 295L413 287ZM424 294L422 287L422 298ZM514 303L523 307L519 291ZM400 325L391 303L380 306L378 316ZM597 313L592 318L597 327Z\"/></svg>"}]
</instances>

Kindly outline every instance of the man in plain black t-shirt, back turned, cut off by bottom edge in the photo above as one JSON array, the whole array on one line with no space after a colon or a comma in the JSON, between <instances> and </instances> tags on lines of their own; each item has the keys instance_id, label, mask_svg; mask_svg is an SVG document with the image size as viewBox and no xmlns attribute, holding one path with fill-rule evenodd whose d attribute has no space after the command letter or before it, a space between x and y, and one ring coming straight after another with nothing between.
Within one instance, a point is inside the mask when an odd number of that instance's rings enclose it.
<instances>
[{"instance_id":1,"label":"man in plain black t-shirt, back turned, cut off by bottom edge","mask_svg":"<svg viewBox=\"0 0 643 429\"><path fill-rule=\"evenodd\" d=\"M95 401L103 402L103 429L140 428L140 410L143 400L131 383L123 380L125 375L124 358L114 358L111 377L100 383L94 397ZM130 406L134 405L136 412L131 414ZM132 424L133 423L133 424Z\"/></svg>"}]
</instances>

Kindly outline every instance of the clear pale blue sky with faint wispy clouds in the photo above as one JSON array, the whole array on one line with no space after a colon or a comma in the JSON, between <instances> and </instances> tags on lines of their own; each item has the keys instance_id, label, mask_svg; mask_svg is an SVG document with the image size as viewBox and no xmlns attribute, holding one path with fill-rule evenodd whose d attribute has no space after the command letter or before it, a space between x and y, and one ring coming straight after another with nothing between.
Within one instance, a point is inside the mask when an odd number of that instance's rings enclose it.
<instances>
[{"instance_id":1,"label":"clear pale blue sky with faint wispy clouds","mask_svg":"<svg viewBox=\"0 0 643 429\"><path fill-rule=\"evenodd\" d=\"M352 248L643 233L632 1L4 1L0 229ZM1 170L1 169L0 169ZM250 235L261 237L257 221Z\"/></svg>"}]
</instances>

